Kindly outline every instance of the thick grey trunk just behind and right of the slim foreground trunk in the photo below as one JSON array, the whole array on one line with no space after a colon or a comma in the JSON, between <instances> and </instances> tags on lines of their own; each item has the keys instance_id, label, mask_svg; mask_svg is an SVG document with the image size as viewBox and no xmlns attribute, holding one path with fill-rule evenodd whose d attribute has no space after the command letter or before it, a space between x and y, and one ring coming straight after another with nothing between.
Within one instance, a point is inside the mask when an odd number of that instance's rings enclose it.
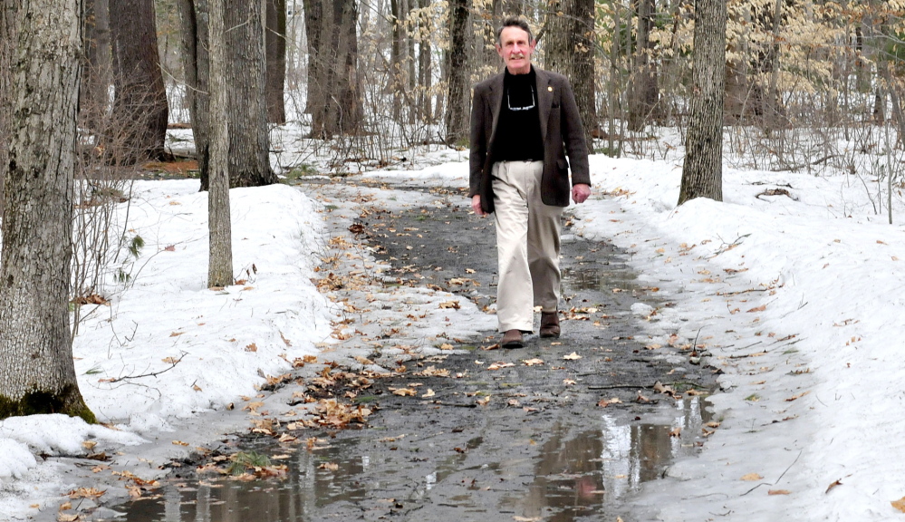
<instances>
[{"instance_id":1,"label":"thick grey trunk just behind and right of the slim foreground trunk","mask_svg":"<svg viewBox=\"0 0 905 522\"><path fill-rule=\"evenodd\" d=\"M213 3L209 5L213 6ZM229 120L229 186L277 183L270 167L267 129L264 16L260 0L234 0L224 8ZM211 82L214 74L211 72ZM219 79L218 79L219 80ZM217 114L211 111L211 116ZM214 120L212 120L214 121Z\"/></svg>"}]
</instances>

